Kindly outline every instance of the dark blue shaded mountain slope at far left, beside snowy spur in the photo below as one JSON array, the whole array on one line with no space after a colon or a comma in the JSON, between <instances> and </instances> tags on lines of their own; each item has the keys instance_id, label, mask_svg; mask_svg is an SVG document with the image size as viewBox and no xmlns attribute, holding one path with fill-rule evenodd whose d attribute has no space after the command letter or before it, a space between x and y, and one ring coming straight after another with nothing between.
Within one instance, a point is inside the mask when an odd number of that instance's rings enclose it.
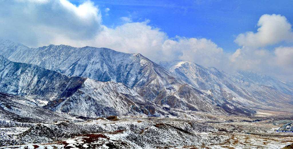
<instances>
[{"instance_id":1,"label":"dark blue shaded mountain slope at far left, beside snowy spur","mask_svg":"<svg viewBox=\"0 0 293 149\"><path fill-rule=\"evenodd\" d=\"M86 80L36 65L11 62L1 55L0 76L1 92L46 101L70 97Z\"/></svg>"}]
</instances>

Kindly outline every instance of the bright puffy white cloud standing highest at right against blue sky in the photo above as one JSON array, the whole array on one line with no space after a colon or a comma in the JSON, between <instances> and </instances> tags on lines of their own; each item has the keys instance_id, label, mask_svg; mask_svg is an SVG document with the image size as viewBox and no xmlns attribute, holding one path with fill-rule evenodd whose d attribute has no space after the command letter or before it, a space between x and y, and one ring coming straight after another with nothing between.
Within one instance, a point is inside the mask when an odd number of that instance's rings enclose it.
<instances>
[{"instance_id":1,"label":"bright puffy white cloud standing highest at right against blue sky","mask_svg":"<svg viewBox=\"0 0 293 149\"><path fill-rule=\"evenodd\" d=\"M234 40L244 46L261 47L273 45L280 41L293 41L291 24L285 16L264 14L258 20L259 28L256 33L251 31L241 33Z\"/></svg>"}]
</instances>

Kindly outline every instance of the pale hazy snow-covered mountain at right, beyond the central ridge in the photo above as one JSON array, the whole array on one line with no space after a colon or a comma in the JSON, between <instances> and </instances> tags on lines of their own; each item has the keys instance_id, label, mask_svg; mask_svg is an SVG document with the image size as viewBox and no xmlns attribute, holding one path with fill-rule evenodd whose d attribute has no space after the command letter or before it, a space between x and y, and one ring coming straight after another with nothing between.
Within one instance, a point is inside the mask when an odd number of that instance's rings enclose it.
<instances>
[{"instance_id":1,"label":"pale hazy snow-covered mountain at right, beyond the central ridge","mask_svg":"<svg viewBox=\"0 0 293 149\"><path fill-rule=\"evenodd\" d=\"M268 76L245 72L230 75L188 61L176 62L169 70L193 87L209 90L214 99L250 106L292 106L293 88Z\"/></svg>"}]
</instances>

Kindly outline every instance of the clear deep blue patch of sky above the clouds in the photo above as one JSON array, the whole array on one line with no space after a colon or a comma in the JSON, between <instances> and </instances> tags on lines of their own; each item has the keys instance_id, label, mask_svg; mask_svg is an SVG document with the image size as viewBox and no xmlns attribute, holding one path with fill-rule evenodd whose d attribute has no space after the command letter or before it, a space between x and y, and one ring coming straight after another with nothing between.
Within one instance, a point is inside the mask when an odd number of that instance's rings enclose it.
<instances>
[{"instance_id":1,"label":"clear deep blue patch of sky above the clouds","mask_svg":"<svg viewBox=\"0 0 293 149\"><path fill-rule=\"evenodd\" d=\"M82 1L72 1L79 5ZM120 17L132 18L133 22L149 19L149 25L160 28L170 38L207 38L234 53L239 46L236 36L246 31L256 32L257 21L263 14L282 14L293 23L292 0L195 0L195 1L133 1L114 0L93 2L101 10L109 8L109 15L101 11L103 24L108 27L121 25ZM290 45L286 42L279 45ZM267 48L273 49L273 46Z\"/></svg>"}]
</instances>

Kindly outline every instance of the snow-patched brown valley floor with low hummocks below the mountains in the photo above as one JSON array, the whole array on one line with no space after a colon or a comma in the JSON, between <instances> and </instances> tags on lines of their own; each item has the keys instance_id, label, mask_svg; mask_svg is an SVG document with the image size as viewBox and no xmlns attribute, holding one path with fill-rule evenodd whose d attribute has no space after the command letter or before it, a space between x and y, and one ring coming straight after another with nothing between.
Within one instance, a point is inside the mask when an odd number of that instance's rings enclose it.
<instances>
[{"instance_id":1,"label":"snow-patched brown valley floor with low hummocks below the mountains","mask_svg":"<svg viewBox=\"0 0 293 149\"><path fill-rule=\"evenodd\" d=\"M0 128L0 148L283 148L293 133L276 132L292 115L197 113L198 120L121 116ZM112 118L113 120L113 118ZM10 122L11 123L11 122ZM21 145L20 145L21 144Z\"/></svg>"}]
</instances>

